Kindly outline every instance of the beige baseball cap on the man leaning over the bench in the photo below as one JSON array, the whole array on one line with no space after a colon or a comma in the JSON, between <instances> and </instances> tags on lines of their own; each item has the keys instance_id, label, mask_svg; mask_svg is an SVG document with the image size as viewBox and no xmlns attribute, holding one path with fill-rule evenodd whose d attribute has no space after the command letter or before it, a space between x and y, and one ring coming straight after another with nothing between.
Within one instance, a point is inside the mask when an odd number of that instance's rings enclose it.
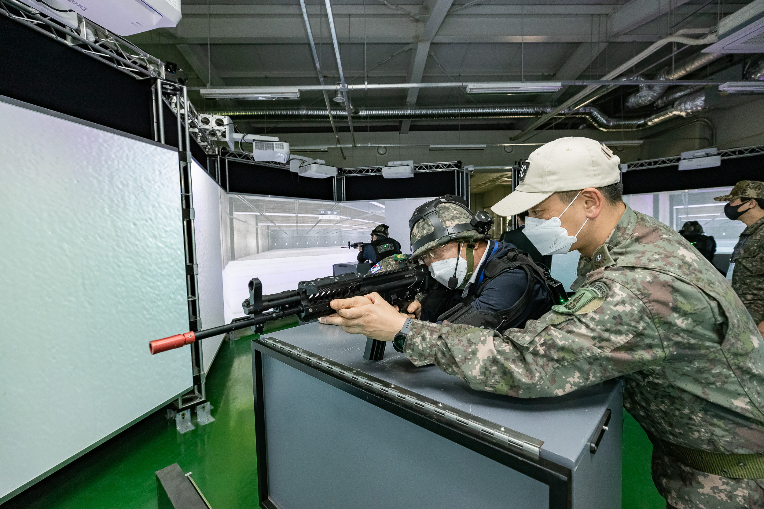
<instances>
[{"instance_id":1,"label":"beige baseball cap on the man leaning over the bench","mask_svg":"<svg viewBox=\"0 0 764 509\"><path fill-rule=\"evenodd\" d=\"M620 159L604 143L565 137L537 148L520 165L515 190L490 208L512 216L558 191L604 187L620 180Z\"/></svg>"}]
</instances>

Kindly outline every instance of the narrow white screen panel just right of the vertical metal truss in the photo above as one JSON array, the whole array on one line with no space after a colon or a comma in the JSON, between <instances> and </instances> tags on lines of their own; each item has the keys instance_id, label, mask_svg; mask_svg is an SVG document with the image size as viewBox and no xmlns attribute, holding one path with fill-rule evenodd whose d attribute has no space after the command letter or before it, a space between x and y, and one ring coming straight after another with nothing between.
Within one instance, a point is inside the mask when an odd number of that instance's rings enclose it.
<instances>
[{"instance_id":1,"label":"narrow white screen panel just right of the vertical metal truss","mask_svg":"<svg viewBox=\"0 0 764 509\"><path fill-rule=\"evenodd\" d=\"M199 263L199 311L202 328L224 324L223 260L220 238L220 186L196 161L191 163L196 262ZM202 341L204 371L215 358L223 334Z\"/></svg>"}]
</instances>

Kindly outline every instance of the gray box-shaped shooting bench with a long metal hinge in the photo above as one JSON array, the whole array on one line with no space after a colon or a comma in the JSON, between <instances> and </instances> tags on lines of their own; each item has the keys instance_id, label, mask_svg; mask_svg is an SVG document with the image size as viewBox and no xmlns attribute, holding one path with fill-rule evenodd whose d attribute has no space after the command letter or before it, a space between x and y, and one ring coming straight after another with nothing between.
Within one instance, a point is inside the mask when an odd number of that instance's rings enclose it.
<instances>
[{"instance_id":1,"label":"gray box-shaped shooting bench with a long metal hinge","mask_svg":"<svg viewBox=\"0 0 764 509\"><path fill-rule=\"evenodd\" d=\"M620 507L621 382L511 398L365 345L318 323L252 341L261 507Z\"/></svg>"}]
</instances>

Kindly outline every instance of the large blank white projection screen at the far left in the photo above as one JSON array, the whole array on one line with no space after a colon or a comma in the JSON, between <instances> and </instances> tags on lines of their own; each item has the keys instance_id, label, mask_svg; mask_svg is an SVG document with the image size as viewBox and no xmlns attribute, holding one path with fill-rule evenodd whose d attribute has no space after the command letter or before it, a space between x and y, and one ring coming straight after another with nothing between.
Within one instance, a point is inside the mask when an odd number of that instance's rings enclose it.
<instances>
[{"instance_id":1,"label":"large blank white projection screen at the far left","mask_svg":"<svg viewBox=\"0 0 764 509\"><path fill-rule=\"evenodd\" d=\"M0 503L192 385L175 150L0 97Z\"/></svg>"}]
</instances>

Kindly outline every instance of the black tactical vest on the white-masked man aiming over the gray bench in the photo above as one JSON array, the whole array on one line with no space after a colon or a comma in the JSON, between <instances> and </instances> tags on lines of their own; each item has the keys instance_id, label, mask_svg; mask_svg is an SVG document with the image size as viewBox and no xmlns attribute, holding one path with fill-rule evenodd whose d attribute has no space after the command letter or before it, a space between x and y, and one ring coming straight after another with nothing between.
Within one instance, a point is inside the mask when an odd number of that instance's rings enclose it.
<instances>
[{"instance_id":1,"label":"black tactical vest on the white-masked man aiming over the gray bench","mask_svg":"<svg viewBox=\"0 0 764 509\"><path fill-rule=\"evenodd\" d=\"M472 302L481 296L490 282L504 272L513 269L523 269L527 276L526 289L520 300L516 301L511 308L498 311L478 311L472 307ZM454 307L445 311L445 313L438 317L438 321L448 320L452 324L474 325L475 327L484 327L485 329L498 330L503 333L504 330L510 327L510 324L516 321L517 317L525 313L529 304L533 301L533 288L538 281L535 277L536 275L541 276L542 281L547 279L543 269L537 266L536 263L533 263L533 259L530 256L526 253L520 253L516 249L510 250L507 255L500 258L490 259L484 270L484 279L480 286L478 286L478 291L468 295L468 297L462 299ZM426 299L423 299L422 306L427 304ZM549 308L552 306L551 299L548 304L545 308L539 309L539 316L549 311Z\"/></svg>"}]
</instances>

